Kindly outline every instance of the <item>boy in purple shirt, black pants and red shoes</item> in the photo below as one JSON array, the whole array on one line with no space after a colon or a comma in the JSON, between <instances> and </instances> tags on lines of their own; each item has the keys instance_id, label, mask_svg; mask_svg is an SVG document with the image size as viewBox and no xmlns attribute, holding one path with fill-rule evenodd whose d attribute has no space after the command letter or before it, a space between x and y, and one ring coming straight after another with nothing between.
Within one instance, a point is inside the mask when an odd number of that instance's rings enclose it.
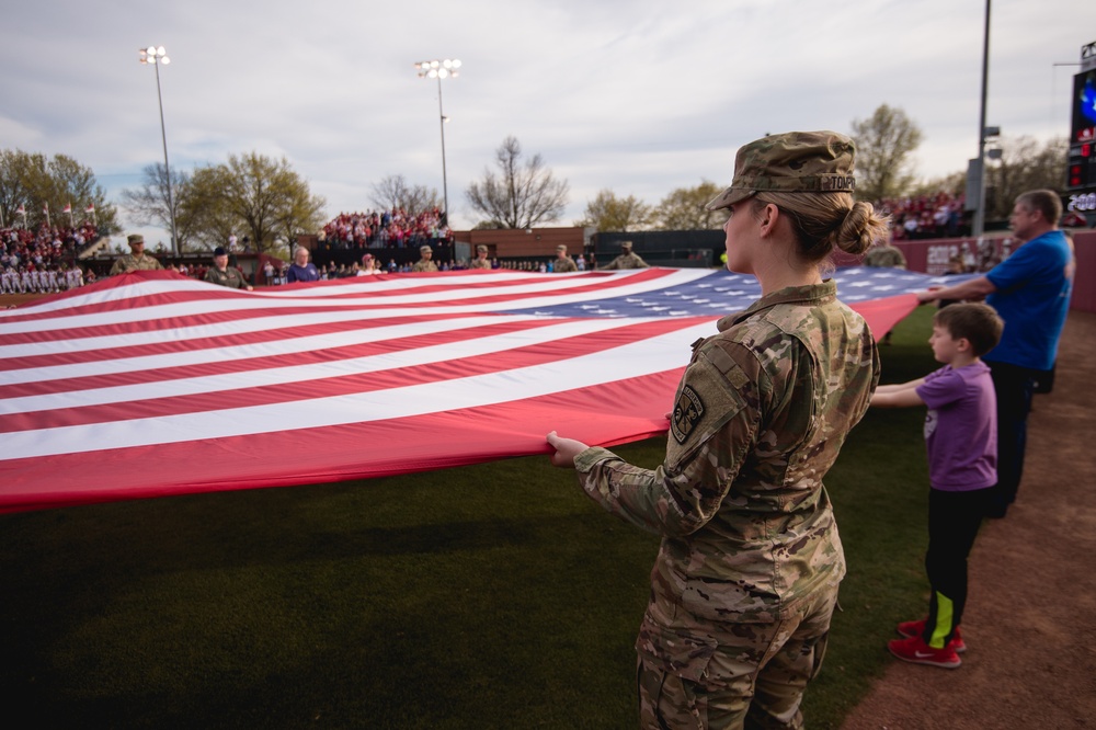
<instances>
[{"instance_id":1,"label":"boy in purple shirt, black pants and red shoes","mask_svg":"<svg viewBox=\"0 0 1096 730\"><path fill-rule=\"evenodd\" d=\"M871 404L928 406L928 618L903 621L887 646L899 659L955 669L967 650L959 624L967 603L967 556L997 482L997 406L981 356L1001 340L1004 323L984 304L945 307L933 318L928 344L944 367L918 380L880 386Z\"/></svg>"}]
</instances>

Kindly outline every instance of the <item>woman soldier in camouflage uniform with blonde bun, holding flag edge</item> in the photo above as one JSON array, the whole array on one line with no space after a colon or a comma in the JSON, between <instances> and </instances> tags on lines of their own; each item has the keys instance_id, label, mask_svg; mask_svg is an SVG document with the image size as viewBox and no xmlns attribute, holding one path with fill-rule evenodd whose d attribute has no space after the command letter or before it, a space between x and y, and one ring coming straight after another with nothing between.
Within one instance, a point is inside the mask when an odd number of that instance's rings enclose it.
<instances>
[{"instance_id":1,"label":"woman soldier in camouflage uniform with blonde bun, holding flag edge","mask_svg":"<svg viewBox=\"0 0 1096 730\"><path fill-rule=\"evenodd\" d=\"M822 280L835 247L887 232L853 201L853 157L832 132L739 150L708 207L763 296L694 343L661 467L548 434L591 498L662 535L636 641L644 728L801 727L845 573L822 477L879 380L870 331Z\"/></svg>"}]
</instances>

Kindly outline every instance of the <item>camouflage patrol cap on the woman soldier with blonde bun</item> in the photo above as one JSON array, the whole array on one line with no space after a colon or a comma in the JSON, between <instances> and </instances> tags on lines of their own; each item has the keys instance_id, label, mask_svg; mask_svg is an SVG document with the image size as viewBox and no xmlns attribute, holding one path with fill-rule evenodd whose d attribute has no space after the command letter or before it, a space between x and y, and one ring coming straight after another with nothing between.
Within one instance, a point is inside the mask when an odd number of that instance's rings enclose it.
<instances>
[{"instance_id":1,"label":"camouflage patrol cap on the woman soldier with blonde bun","mask_svg":"<svg viewBox=\"0 0 1096 730\"><path fill-rule=\"evenodd\" d=\"M836 132L788 132L743 145L731 186L708 203L728 208L757 193L852 193L853 140Z\"/></svg>"}]
</instances>

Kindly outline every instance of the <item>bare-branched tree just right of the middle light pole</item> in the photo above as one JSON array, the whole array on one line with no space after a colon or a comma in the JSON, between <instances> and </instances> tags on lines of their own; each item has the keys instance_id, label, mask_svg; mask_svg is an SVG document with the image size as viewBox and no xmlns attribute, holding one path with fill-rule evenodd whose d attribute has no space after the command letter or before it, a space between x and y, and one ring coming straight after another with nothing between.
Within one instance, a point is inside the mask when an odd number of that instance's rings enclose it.
<instances>
[{"instance_id":1,"label":"bare-branched tree just right of the middle light pole","mask_svg":"<svg viewBox=\"0 0 1096 730\"><path fill-rule=\"evenodd\" d=\"M483 171L483 179L465 195L493 228L533 228L559 220L567 206L566 180L557 180L540 155L522 160L516 137L506 137L495 150L499 174Z\"/></svg>"}]
</instances>

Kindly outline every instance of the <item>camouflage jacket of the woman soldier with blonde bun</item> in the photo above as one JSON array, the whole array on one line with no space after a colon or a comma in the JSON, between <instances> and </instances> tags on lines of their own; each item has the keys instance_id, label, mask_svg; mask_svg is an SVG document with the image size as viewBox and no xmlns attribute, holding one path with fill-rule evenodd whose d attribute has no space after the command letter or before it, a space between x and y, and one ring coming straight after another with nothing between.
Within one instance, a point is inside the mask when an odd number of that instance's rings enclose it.
<instances>
[{"instance_id":1,"label":"camouflage jacket of the woman soldier with blonde bun","mask_svg":"<svg viewBox=\"0 0 1096 730\"><path fill-rule=\"evenodd\" d=\"M684 628L769 623L845 573L822 477L864 415L879 355L832 281L769 294L694 344L665 461L575 457L606 510L663 536L652 606Z\"/></svg>"}]
</instances>

